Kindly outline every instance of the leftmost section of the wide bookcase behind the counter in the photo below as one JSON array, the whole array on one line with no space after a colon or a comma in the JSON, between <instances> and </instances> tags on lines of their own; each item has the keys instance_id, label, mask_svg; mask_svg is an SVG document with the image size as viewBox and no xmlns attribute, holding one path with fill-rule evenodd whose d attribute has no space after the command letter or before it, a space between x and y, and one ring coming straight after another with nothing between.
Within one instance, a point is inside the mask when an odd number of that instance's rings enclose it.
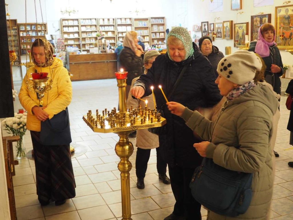
<instances>
[{"instance_id":1,"label":"leftmost section of the wide bookcase behind the counter","mask_svg":"<svg viewBox=\"0 0 293 220\"><path fill-rule=\"evenodd\" d=\"M64 35L65 48L76 46L80 49L80 22L78 18L61 18L61 33Z\"/></svg>"}]
</instances>

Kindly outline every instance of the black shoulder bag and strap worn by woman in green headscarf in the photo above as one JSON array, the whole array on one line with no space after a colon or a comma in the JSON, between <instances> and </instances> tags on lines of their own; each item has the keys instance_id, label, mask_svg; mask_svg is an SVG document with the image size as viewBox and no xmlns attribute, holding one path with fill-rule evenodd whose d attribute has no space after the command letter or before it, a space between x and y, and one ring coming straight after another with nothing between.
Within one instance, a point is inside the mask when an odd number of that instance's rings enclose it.
<instances>
[{"instance_id":1,"label":"black shoulder bag and strap worn by woman in green headscarf","mask_svg":"<svg viewBox=\"0 0 293 220\"><path fill-rule=\"evenodd\" d=\"M181 72L180 72L180 75L178 76L178 79L176 80L174 86L173 86L173 89L171 90L171 92L169 93L168 95L168 98L167 99L170 99L170 97L172 96L174 90L176 89L177 85L178 85L178 82L180 81L180 79L182 78L183 76L183 73L185 72L187 66L189 65L189 63L186 63L184 65L184 67L182 68ZM157 113L160 113L161 114L161 117L165 118L165 114L164 114L164 109L166 107L166 104L163 104L163 106L161 107L161 109L158 109ZM152 134L156 134L156 135L165 135L167 134L167 127L166 127L166 124L164 124L163 126L161 127L153 127L153 128L148 128L147 129L150 133Z\"/></svg>"}]
</instances>

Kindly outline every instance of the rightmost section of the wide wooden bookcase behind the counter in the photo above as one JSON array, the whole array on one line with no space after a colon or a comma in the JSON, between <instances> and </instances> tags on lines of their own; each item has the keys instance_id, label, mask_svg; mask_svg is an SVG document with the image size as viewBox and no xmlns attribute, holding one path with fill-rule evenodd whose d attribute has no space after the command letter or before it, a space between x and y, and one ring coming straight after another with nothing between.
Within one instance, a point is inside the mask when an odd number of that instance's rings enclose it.
<instances>
[{"instance_id":1,"label":"rightmost section of the wide wooden bookcase behind the counter","mask_svg":"<svg viewBox=\"0 0 293 220\"><path fill-rule=\"evenodd\" d=\"M164 44L166 34L165 17L151 17L151 45Z\"/></svg>"}]
</instances>

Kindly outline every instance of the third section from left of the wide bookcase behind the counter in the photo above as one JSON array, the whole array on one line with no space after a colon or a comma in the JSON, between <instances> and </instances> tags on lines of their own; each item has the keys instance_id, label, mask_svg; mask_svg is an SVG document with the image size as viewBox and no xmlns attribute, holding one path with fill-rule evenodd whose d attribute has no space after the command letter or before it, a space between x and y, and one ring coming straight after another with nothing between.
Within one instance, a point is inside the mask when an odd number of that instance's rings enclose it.
<instances>
[{"instance_id":1,"label":"third section from left of the wide bookcase behind the counter","mask_svg":"<svg viewBox=\"0 0 293 220\"><path fill-rule=\"evenodd\" d=\"M105 40L110 41L112 48L116 46L116 19L98 18L98 30L104 35Z\"/></svg>"}]
</instances>

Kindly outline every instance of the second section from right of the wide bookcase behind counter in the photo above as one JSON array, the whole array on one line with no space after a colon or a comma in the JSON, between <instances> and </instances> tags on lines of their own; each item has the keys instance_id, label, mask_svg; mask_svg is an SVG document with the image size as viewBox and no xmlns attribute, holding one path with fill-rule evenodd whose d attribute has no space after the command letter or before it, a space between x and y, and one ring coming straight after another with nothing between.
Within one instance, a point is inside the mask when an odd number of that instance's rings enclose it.
<instances>
[{"instance_id":1,"label":"second section from right of the wide bookcase behind counter","mask_svg":"<svg viewBox=\"0 0 293 220\"><path fill-rule=\"evenodd\" d=\"M144 43L145 49L147 49L150 44L150 22L149 18L133 18L133 28L137 32L137 35L142 37L142 42Z\"/></svg>"}]
</instances>

